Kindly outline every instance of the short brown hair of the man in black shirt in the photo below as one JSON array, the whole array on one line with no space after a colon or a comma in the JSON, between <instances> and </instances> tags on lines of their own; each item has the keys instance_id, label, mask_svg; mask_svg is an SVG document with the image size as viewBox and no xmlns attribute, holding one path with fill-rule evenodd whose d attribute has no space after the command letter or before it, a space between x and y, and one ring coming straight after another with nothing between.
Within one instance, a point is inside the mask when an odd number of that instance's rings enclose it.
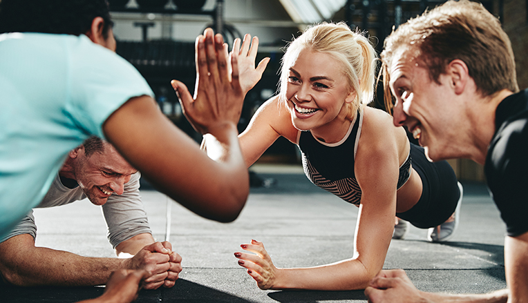
<instances>
[{"instance_id":1,"label":"short brown hair of the man in black shirt","mask_svg":"<svg viewBox=\"0 0 528 303\"><path fill-rule=\"evenodd\" d=\"M427 66L433 81L438 82L451 61L460 59L483 97L503 89L519 90L509 37L498 19L480 3L447 1L410 19L387 37L381 52L381 72L388 110L392 107L388 68L402 46L419 50L417 59Z\"/></svg>"}]
</instances>

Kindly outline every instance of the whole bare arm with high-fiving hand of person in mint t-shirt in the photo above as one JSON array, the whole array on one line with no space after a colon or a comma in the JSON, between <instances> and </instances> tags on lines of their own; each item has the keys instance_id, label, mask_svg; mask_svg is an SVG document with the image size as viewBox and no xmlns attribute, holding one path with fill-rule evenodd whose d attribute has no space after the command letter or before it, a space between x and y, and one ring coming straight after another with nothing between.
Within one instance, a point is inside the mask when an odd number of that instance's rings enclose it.
<instances>
[{"instance_id":1,"label":"whole bare arm with high-fiving hand of person in mint t-shirt","mask_svg":"<svg viewBox=\"0 0 528 303\"><path fill-rule=\"evenodd\" d=\"M173 81L187 119L200 133L216 138L216 161L200 152L150 97L130 99L103 126L109 141L158 189L194 213L220 222L236 219L249 193L236 128L243 105L237 56L232 56L229 81L226 52L221 36L207 29L196 41L195 97Z\"/></svg>"}]
</instances>

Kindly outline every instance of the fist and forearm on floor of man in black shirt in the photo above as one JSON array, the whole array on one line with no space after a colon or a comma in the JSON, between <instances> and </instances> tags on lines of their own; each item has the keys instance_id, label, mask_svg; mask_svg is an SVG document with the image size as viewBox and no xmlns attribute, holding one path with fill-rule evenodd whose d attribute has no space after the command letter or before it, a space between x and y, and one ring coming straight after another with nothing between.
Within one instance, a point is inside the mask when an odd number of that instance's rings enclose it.
<instances>
[{"instance_id":1,"label":"fist and forearm on floor of man in black shirt","mask_svg":"<svg viewBox=\"0 0 528 303\"><path fill-rule=\"evenodd\" d=\"M502 289L480 295L426 293L418 291L402 269L381 271L365 289L372 303L506 303L509 291Z\"/></svg>"}]
</instances>

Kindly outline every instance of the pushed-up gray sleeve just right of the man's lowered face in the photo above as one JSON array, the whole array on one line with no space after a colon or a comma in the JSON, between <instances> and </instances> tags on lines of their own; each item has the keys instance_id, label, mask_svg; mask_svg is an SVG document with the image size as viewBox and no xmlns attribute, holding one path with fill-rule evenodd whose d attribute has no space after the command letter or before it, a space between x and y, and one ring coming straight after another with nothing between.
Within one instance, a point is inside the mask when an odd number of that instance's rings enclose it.
<instances>
[{"instance_id":1,"label":"pushed-up gray sleeve just right of the man's lowered face","mask_svg":"<svg viewBox=\"0 0 528 303\"><path fill-rule=\"evenodd\" d=\"M111 195L102 206L108 238L113 248L140 233L152 234L140 196L140 173L124 184L122 195Z\"/></svg>"}]
</instances>

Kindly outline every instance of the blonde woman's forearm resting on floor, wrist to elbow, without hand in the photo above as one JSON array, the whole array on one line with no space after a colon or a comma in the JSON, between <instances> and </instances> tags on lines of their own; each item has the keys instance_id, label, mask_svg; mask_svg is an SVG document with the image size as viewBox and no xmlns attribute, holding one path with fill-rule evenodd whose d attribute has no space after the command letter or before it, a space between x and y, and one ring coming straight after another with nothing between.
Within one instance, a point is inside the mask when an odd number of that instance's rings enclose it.
<instances>
[{"instance_id":1,"label":"blonde woman's forearm resting on floor, wrist to elbow, without hand","mask_svg":"<svg viewBox=\"0 0 528 303\"><path fill-rule=\"evenodd\" d=\"M358 260L345 260L310 268L279 268L273 289L351 291L365 289L376 273L368 273Z\"/></svg>"}]
</instances>

